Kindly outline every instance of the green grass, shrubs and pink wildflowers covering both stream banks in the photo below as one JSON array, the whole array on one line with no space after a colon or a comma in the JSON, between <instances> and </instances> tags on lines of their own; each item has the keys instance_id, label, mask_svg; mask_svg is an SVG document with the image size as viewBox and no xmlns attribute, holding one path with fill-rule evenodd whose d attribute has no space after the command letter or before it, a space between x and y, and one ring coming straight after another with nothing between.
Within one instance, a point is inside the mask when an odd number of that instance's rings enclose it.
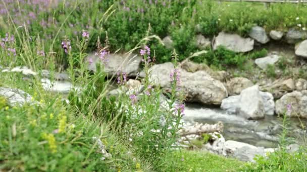
<instances>
[{"instance_id":1,"label":"green grass, shrubs and pink wildflowers covering both stream banks","mask_svg":"<svg viewBox=\"0 0 307 172\"><path fill-rule=\"evenodd\" d=\"M97 66L93 74L87 71L85 61L87 53L97 49L114 52L135 48L135 53L142 49L149 54L148 45L157 62L173 59L176 65L198 51L194 43L197 33L209 38L220 31L244 36L253 25L267 30L303 30L307 26L307 8L303 5L274 4L266 9L262 4L196 0L3 0L0 7L0 65L25 65L39 73L29 78L19 73L0 73L0 87L22 89L34 102L11 106L0 97L0 170L306 170L305 161L296 163L297 158L305 157L305 152L291 155L282 150L268 160L260 158L258 166L244 166L243 162L207 152L175 151L183 111L183 97L176 89L179 76L170 78L170 101L162 108L162 91L152 87L147 77L142 80L145 94L107 98L111 81L105 79L104 66ZM178 55L150 35L170 35ZM267 53L262 50L237 54L223 47L208 51L193 60L225 68L243 66L249 56L257 58ZM146 54L142 55L148 74L153 63ZM281 63L280 67L285 65ZM42 69L50 70L51 75L67 70L72 83L84 89L67 95L67 103L63 95L42 89ZM118 80L125 85L124 75L119 75ZM100 141L112 157L101 152Z\"/></svg>"}]
</instances>

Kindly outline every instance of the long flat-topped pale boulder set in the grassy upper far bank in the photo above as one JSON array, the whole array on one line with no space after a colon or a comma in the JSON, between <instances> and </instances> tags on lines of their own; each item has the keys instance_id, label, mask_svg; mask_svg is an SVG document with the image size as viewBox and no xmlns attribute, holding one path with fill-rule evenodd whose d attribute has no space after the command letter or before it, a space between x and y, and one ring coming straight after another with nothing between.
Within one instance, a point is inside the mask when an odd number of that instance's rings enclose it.
<instances>
[{"instance_id":1,"label":"long flat-topped pale boulder set in the grassy upper far bank","mask_svg":"<svg viewBox=\"0 0 307 172\"><path fill-rule=\"evenodd\" d=\"M219 46L224 46L234 52L248 52L253 49L253 44L253 39L221 32L214 40L213 49L216 50Z\"/></svg>"}]
</instances>

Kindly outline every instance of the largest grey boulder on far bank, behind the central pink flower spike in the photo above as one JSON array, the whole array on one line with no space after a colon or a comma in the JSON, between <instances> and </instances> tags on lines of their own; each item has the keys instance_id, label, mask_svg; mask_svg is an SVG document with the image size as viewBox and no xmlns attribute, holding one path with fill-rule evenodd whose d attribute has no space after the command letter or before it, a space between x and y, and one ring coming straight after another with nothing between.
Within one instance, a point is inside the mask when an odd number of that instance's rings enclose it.
<instances>
[{"instance_id":1,"label":"largest grey boulder on far bank, behind the central pink flower spike","mask_svg":"<svg viewBox=\"0 0 307 172\"><path fill-rule=\"evenodd\" d=\"M180 84L178 87L186 94L188 102L199 102L206 105L220 105L228 96L224 84L212 78L207 72L199 70L194 73L181 68ZM160 85L164 90L171 89L171 72L174 65L171 62L156 64L150 69L149 80L155 85Z\"/></svg>"}]
</instances>

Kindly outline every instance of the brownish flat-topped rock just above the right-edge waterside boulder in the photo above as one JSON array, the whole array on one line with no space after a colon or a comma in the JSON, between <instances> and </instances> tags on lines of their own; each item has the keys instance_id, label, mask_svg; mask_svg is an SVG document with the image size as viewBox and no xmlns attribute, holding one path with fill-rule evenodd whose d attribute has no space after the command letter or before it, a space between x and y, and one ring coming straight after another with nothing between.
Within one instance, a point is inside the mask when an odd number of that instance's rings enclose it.
<instances>
[{"instance_id":1,"label":"brownish flat-topped rock just above the right-edge waterside boulder","mask_svg":"<svg viewBox=\"0 0 307 172\"><path fill-rule=\"evenodd\" d=\"M292 78L277 79L273 83L261 87L262 91L270 92L275 99L281 98L284 94L295 90L295 82Z\"/></svg>"}]
</instances>

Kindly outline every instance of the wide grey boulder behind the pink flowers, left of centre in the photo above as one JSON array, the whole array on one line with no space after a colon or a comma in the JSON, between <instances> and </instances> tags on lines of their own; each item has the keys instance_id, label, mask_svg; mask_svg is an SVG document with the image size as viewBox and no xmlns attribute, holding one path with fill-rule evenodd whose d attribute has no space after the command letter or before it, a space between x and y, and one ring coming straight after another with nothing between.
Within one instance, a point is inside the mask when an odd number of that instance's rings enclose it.
<instances>
[{"instance_id":1,"label":"wide grey boulder behind the pink flowers, left of centre","mask_svg":"<svg viewBox=\"0 0 307 172\"><path fill-rule=\"evenodd\" d=\"M116 75L119 71L125 72L128 76L136 76L139 70L142 57L136 54L109 54L107 57L109 60L105 64L104 70L109 75ZM91 61L88 65L88 69L96 71L96 63L102 64L103 61L98 56L91 54L87 57L87 61Z\"/></svg>"}]
</instances>

